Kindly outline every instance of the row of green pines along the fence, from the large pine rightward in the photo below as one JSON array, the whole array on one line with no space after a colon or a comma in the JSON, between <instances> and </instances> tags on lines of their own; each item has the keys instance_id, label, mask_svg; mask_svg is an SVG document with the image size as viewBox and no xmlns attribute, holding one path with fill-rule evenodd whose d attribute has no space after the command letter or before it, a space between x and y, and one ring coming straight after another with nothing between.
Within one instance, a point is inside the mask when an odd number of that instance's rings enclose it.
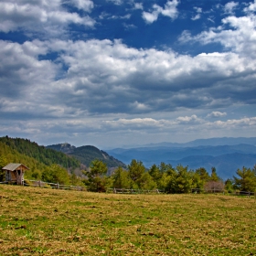
<instances>
[{"instance_id":1,"label":"row of green pines along the fence, from the large pine rightward","mask_svg":"<svg viewBox=\"0 0 256 256\"><path fill-rule=\"evenodd\" d=\"M238 169L233 178L223 181L217 174L216 168L211 173L204 167L195 171L188 166L161 163L146 169L143 162L132 160L127 170L119 166L111 176L107 176L107 165L100 160L94 160L90 169L84 171L84 184L91 191L104 192L108 188L126 189L158 189L165 193L190 193L196 191L250 191L256 192L256 165L251 168Z\"/></svg>"}]
</instances>

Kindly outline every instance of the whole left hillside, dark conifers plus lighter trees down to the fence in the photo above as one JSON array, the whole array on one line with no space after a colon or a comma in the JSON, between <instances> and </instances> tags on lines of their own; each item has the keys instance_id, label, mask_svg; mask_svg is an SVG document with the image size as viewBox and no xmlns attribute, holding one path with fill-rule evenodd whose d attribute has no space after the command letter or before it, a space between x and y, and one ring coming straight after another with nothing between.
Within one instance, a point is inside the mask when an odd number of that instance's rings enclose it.
<instances>
[{"instance_id":1,"label":"whole left hillside, dark conifers plus lighter trees down to the fence","mask_svg":"<svg viewBox=\"0 0 256 256\"><path fill-rule=\"evenodd\" d=\"M5 179L5 174L1 172L2 167L9 163L22 163L29 168L25 173L26 179L46 179L46 172L56 170L62 172L67 177L74 173L76 176L82 176L81 169L84 168L80 161L72 156L57 152L53 149L47 149L27 139L10 138L8 136L0 138L0 180ZM63 176L62 176L63 177ZM55 178L49 177L48 181L53 182ZM75 179L71 183L75 183Z\"/></svg>"}]
</instances>

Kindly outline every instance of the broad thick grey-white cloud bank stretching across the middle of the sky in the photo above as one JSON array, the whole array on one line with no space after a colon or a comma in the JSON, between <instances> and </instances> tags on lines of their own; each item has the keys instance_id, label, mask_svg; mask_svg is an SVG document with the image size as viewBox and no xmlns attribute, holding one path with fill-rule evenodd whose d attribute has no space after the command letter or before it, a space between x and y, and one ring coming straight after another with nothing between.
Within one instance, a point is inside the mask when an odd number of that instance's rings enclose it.
<instances>
[{"instance_id":1,"label":"broad thick grey-white cloud bank stretching across the middle of the sky","mask_svg":"<svg viewBox=\"0 0 256 256\"><path fill-rule=\"evenodd\" d=\"M57 58L39 60L48 53ZM14 97L12 91L18 97L8 104L9 110L26 112L25 101L31 109L40 102L41 114L50 116L255 103L256 62L235 53L191 57L171 50L129 48L121 40L52 39L24 44L2 41L0 58L2 95L5 101ZM178 121L197 121L196 116L190 118Z\"/></svg>"}]
</instances>

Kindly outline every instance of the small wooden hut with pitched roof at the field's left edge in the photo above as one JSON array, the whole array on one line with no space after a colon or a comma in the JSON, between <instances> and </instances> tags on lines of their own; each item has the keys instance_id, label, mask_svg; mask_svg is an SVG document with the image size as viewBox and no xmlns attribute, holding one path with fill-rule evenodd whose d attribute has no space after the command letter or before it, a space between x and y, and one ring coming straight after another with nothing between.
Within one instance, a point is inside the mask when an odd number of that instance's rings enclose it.
<instances>
[{"instance_id":1,"label":"small wooden hut with pitched roof at the field's left edge","mask_svg":"<svg viewBox=\"0 0 256 256\"><path fill-rule=\"evenodd\" d=\"M24 184L24 173L28 170L26 165L11 163L2 168L5 170L6 182L16 182L17 185Z\"/></svg>"}]
</instances>

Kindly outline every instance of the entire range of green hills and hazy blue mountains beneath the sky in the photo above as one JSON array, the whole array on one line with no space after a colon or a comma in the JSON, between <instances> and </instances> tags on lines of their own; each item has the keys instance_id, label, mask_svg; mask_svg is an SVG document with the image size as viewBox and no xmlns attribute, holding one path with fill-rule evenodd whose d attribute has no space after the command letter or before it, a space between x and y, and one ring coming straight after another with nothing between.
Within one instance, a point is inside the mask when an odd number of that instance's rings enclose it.
<instances>
[{"instance_id":1,"label":"entire range of green hills and hazy blue mountains beneath the sky","mask_svg":"<svg viewBox=\"0 0 256 256\"><path fill-rule=\"evenodd\" d=\"M20 162L28 165L31 176L36 176L38 170L47 165L58 164L67 170L80 170L91 161L99 159L106 163L109 174L117 166L129 165L133 159L142 161L145 167L159 165L161 162L184 165L196 170L205 167L210 172L211 167L223 179L236 175L242 166L252 168L256 165L256 138L212 138L196 140L186 144L146 144L133 148L114 148L100 150L93 145L76 147L74 145L52 144L39 146L27 139L0 138L0 156L5 155L7 162ZM34 174L35 173L35 174Z\"/></svg>"}]
</instances>

